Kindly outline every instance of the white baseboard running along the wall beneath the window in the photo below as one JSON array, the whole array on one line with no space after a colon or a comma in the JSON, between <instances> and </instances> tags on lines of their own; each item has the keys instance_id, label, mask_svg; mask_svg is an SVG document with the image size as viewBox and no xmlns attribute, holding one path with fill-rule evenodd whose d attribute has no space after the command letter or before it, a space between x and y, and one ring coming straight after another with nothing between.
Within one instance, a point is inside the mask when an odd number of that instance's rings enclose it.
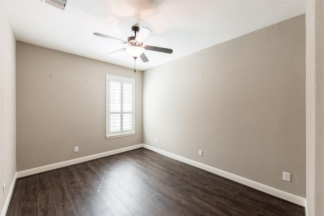
<instances>
[{"instance_id":1,"label":"white baseboard running along the wall beneath the window","mask_svg":"<svg viewBox=\"0 0 324 216\"><path fill-rule=\"evenodd\" d=\"M107 152L103 152L103 153L99 153L99 154L94 154L94 155L89 155L86 157L80 157L80 158L67 160L67 161L63 161L63 162L59 162L59 163L53 163L53 164L46 165L46 166L41 166L41 167L36 167L36 168L16 172L16 176L17 176L17 178L22 178L22 177L38 174L40 172L45 172L45 171L49 171L52 169L58 169L58 168L62 168L65 166L70 166L73 164L82 163L82 162L86 162L89 160L94 160L94 159L98 159L101 157L106 157L109 155L118 154L118 153L122 153L122 152L126 152L126 151L131 151L131 150L142 148L142 147L143 147L143 144L138 144L135 146L125 147L125 148L107 151Z\"/></svg>"}]
</instances>

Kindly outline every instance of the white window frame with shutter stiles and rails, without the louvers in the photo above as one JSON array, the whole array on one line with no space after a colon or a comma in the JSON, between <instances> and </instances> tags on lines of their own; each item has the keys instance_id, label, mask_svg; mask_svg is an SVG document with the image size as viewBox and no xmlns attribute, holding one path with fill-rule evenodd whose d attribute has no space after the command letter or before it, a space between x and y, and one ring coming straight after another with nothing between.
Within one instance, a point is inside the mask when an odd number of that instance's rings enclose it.
<instances>
[{"instance_id":1,"label":"white window frame with shutter stiles and rails, without the louvers","mask_svg":"<svg viewBox=\"0 0 324 216\"><path fill-rule=\"evenodd\" d=\"M110 132L110 81L116 81L120 82L120 130L115 132ZM131 129L123 129L123 90L124 90L124 83L128 83L132 85L132 111L127 112L128 114L132 114L132 128ZM125 111L126 112L126 111ZM115 112L118 113L118 112ZM125 113L126 114L126 113ZM132 136L135 135L135 79L134 78L128 78L123 76L115 76L106 74L106 139L112 139L112 138L118 138L118 137L125 137L125 136Z\"/></svg>"}]
</instances>

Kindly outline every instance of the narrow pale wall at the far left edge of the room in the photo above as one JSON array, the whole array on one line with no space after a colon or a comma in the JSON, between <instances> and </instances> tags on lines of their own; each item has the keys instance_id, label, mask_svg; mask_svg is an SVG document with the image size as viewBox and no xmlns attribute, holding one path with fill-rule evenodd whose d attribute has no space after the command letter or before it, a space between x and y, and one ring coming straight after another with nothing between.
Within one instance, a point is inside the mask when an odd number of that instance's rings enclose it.
<instances>
[{"instance_id":1,"label":"narrow pale wall at the far left edge of the room","mask_svg":"<svg viewBox=\"0 0 324 216\"><path fill-rule=\"evenodd\" d=\"M16 38L1 6L0 27L0 212L16 172ZM6 184L6 193L2 187Z\"/></svg>"}]
</instances>

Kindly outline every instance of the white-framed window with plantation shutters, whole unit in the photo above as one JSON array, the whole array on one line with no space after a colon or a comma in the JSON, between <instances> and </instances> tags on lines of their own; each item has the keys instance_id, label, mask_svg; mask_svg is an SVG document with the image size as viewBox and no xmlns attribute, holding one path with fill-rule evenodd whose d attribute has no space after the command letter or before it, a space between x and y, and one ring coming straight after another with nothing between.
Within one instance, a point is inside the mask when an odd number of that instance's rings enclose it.
<instances>
[{"instance_id":1,"label":"white-framed window with plantation shutters, whole unit","mask_svg":"<svg viewBox=\"0 0 324 216\"><path fill-rule=\"evenodd\" d=\"M135 134L135 79L106 74L106 138Z\"/></svg>"}]
</instances>

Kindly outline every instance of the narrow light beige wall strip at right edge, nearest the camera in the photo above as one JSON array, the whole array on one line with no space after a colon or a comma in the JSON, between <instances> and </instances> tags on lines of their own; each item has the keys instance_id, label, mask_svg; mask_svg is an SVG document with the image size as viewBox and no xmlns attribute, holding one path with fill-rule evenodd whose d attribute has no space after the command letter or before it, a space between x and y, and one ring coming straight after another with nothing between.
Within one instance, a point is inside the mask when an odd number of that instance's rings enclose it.
<instances>
[{"instance_id":1,"label":"narrow light beige wall strip at right edge, nearest the camera","mask_svg":"<svg viewBox=\"0 0 324 216\"><path fill-rule=\"evenodd\" d=\"M324 215L324 2L306 10L306 189L308 215Z\"/></svg>"}]
</instances>

